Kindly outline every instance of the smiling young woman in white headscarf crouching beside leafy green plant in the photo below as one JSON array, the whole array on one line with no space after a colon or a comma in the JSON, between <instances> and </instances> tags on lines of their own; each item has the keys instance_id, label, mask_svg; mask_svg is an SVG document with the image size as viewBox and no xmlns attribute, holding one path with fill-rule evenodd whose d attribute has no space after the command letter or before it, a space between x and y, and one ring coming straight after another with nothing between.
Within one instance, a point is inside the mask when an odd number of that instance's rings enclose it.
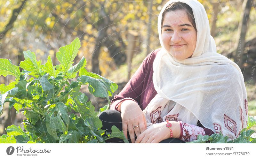
<instances>
[{"instance_id":1,"label":"smiling young woman in white headscarf crouching beside leafy green plant","mask_svg":"<svg viewBox=\"0 0 256 159\"><path fill-rule=\"evenodd\" d=\"M203 5L170 0L158 33L162 48L144 59L111 110L99 115L102 129L116 125L130 143L184 143L220 132L237 138L247 125L243 74L216 52Z\"/></svg>"}]
</instances>

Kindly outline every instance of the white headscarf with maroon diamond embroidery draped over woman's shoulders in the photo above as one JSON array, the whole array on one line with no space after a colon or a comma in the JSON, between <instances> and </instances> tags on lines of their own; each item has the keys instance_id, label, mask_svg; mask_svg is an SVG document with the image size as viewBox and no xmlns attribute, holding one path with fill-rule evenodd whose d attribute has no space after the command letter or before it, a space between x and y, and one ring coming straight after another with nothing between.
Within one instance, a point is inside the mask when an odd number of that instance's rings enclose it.
<instances>
[{"instance_id":1,"label":"white headscarf with maroon diamond embroidery draped over woman's shoulders","mask_svg":"<svg viewBox=\"0 0 256 159\"><path fill-rule=\"evenodd\" d=\"M173 2L188 4L196 21L196 48L185 60L173 58L161 38L162 13ZM158 33L162 49L153 64L158 94L143 110L147 122L168 119L196 125L199 120L215 133L237 138L247 125L244 77L237 64L216 52L204 6L196 0L170 0L158 16Z\"/></svg>"}]
</instances>

